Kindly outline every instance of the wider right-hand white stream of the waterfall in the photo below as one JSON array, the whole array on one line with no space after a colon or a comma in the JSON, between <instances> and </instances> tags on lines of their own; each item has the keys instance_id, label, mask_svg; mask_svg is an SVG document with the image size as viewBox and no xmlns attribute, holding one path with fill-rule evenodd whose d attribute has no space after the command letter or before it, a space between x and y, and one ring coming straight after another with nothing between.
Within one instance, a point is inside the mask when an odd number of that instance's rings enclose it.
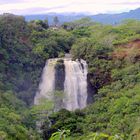
<instances>
[{"instance_id":1,"label":"wider right-hand white stream of the waterfall","mask_svg":"<svg viewBox=\"0 0 140 140\"><path fill-rule=\"evenodd\" d=\"M64 108L68 110L82 109L87 101L87 65L81 60L65 60Z\"/></svg>"}]
</instances>

